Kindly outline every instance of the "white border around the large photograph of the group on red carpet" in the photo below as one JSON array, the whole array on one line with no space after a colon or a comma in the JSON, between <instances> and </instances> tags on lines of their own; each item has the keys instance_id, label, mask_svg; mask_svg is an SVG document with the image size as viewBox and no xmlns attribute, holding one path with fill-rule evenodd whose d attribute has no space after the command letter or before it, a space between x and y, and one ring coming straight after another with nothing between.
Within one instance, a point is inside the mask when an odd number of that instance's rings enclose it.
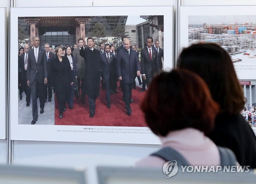
<instances>
[{"instance_id":1,"label":"white border around the large photograph of the group on red carpet","mask_svg":"<svg viewBox=\"0 0 256 184\"><path fill-rule=\"evenodd\" d=\"M161 11L155 11L155 8ZM173 7L172 6L130 6L130 7L61 7L61 8L11 8L10 41L10 124L11 140L41 140L66 142L102 142L160 144L160 140L148 127L108 127L73 125L22 125L18 124L17 85L18 62L15 62L18 45L18 17L66 17L66 16L121 16L121 15L163 15L167 45L165 70L172 68ZM123 104L124 105L124 104ZM85 116L88 116L86 113ZM40 114L39 114L40 118ZM143 117L141 117L143 118ZM32 112L31 112L32 120ZM139 121L139 119L138 119ZM122 131L119 131L122 129ZM123 131L124 130L124 131Z\"/></svg>"}]
</instances>

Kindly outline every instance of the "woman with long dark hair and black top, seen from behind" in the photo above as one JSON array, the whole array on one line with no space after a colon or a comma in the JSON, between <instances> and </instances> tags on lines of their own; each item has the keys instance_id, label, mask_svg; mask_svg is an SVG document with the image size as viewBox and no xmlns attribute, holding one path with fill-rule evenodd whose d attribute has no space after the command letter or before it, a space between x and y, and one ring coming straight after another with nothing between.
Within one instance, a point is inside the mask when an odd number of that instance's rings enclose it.
<instances>
[{"instance_id":1,"label":"woman with long dark hair and black top, seen from behind","mask_svg":"<svg viewBox=\"0 0 256 184\"><path fill-rule=\"evenodd\" d=\"M210 139L230 148L241 166L256 168L256 137L240 114L245 98L227 51L212 43L194 44L183 49L177 64L200 75L220 107Z\"/></svg>"}]
</instances>

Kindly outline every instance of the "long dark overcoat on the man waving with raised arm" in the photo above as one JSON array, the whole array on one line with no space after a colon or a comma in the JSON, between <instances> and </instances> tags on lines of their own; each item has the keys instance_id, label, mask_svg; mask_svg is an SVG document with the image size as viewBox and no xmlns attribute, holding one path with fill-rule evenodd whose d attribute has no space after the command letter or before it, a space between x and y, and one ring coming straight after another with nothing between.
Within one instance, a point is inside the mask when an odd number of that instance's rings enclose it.
<instances>
[{"instance_id":1,"label":"long dark overcoat on the man waving with raised arm","mask_svg":"<svg viewBox=\"0 0 256 184\"><path fill-rule=\"evenodd\" d=\"M99 86L101 81L101 52L89 48L81 48L80 55L85 60L85 75L83 94L88 95L89 98L97 98L99 96Z\"/></svg>"}]
</instances>

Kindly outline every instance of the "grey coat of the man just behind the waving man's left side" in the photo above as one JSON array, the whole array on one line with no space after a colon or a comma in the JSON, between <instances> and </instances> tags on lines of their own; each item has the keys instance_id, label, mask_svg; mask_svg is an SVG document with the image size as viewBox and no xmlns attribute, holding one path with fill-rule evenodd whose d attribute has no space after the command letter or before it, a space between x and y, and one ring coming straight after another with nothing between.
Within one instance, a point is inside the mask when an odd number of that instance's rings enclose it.
<instances>
[{"instance_id":1,"label":"grey coat of the man just behind the waving man's left side","mask_svg":"<svg viewBox=\"0 0 256 184\"><path fill-rule=\"evenodd\" d=\"M77 69L77 77L78 78L84 78L85 75L85 62L84 58L80 56L80 48L76 48L73 51L73 56L75 57L76 60L76 69ZM84 50L84 49L83 49Z\"/></svg>"}]
</instances>

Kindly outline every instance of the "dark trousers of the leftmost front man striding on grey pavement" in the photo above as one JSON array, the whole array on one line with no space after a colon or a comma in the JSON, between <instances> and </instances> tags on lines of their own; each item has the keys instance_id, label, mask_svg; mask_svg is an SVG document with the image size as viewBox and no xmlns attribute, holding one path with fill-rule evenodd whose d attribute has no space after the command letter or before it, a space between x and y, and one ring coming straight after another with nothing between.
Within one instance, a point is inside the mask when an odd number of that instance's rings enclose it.
<instances>
[{"instance_id":1,"label":"dark trousers of the leftmost front man striding on grey pavement","mask_svg":"<svg viewBox=\"0 0 256 184\"><path fill-rule=\"evenodd\" d=\"M32 115L33 119L38 118L38 109L37 109L37 94L39 95L40 108L44 108L44 83L38 83L38 76L35 75L35 80L33 83L30 83L31 88L31 98L32 98Z\"/></svg>"}]
</instances>

